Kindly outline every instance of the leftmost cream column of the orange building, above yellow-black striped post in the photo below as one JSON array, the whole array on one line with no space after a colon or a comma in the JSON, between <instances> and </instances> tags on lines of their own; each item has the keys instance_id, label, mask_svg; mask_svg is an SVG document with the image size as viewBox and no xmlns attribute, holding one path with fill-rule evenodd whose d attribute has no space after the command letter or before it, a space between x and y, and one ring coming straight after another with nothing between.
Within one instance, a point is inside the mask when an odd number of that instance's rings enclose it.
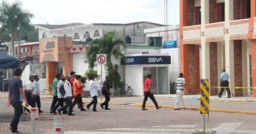
<instances>
[{"instance_id":1,"label":"leftmost cream column of the orange building, above yellow-black striped post","mask_svg":"<svg viewBox=\"0 0 256 134\"><path fill-rule=\"evenodd\" d=\"M205 42L205 24L209 24L209 1L201 1L201 57L202 57L202 78L207 78L210 82L210 58L209 42Z\"/></svg>"}]
</instances>

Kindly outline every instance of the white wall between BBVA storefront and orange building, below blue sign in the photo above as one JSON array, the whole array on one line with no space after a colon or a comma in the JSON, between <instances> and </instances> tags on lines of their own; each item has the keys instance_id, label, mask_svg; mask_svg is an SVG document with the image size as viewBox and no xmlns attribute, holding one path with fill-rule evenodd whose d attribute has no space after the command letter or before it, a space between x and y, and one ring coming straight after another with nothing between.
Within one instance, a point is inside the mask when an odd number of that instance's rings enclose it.
<instances>
[{"instance_id":1,"label":"white wall between BBVA storefront and orange building, below blue sign","mask_svg":"<svg viewBox=\"0 0 256 134\"><path fill-rule=\"evenodd\" d=\"M169 80L175 82L179 78L180 69L180 48L161 49L161 54L171 56L171 65L169 65Z\"/></svg>"}]
</instances>

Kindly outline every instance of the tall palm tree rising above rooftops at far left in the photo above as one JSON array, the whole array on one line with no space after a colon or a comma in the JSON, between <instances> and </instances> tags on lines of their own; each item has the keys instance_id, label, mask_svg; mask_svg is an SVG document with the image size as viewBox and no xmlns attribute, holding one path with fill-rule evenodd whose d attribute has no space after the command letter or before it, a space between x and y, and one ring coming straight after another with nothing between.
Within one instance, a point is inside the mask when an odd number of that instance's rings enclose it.
<instances>
[{"instance_id":1,"label":"tall palm tree rising above rooftops at far left","mask_svg":"<svg viewBox=\"0 0 256 134\"><path fill-rule=\"evenodd\" d=\"M16 1L12 4L3 1L0 6L1 31L9 31L12 42L12 56L14 56L14 39L18 37L18 27L20 25L29 25L30 18L33 17L28 10L22 9L22 3Z\"/></svg>"}]
</instances>

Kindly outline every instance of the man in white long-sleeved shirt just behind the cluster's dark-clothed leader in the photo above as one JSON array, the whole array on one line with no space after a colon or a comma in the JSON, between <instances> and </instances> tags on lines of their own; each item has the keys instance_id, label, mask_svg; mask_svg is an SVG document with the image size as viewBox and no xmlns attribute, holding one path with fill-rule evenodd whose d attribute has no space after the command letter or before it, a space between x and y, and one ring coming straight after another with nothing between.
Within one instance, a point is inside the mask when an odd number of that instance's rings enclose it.
<instances>
[{"instance_id":1,"label":"man in white long-sleeved shirt just behind the cluster's dark-clothed leader","mask_svg":"<svg viewBox=\"0 0 256 134\"><path fill-rule=\"evenodd\" d=\"M100 86L100 84L96 84L95 76L90 77L89 88L90 88L91 97L93 97L93 101L91 101L91 103L89 103L86 107L89 110L91 105L93 105L93 112L96 112L97 111L96 110L96 105L98 103L98 100L97 100L98 90L97 90L97 88L101 88L101 86Z\"/></svg>"}]
</instances>

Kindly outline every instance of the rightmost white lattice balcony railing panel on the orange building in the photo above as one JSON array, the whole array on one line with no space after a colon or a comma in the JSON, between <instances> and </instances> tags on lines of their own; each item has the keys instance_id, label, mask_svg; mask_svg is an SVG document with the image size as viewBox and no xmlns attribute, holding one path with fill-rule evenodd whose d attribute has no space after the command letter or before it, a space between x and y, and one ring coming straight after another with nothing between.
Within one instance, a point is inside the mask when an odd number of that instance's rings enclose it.
<instances>
[{"instance_id":1,"label":"rightmost white lattice balcony railing panel on the orange building","mask_svg":"<svg viewBox=\"0 0 256 134\"><path fill-rule=\"evenodd\" d=\"M249 19L233 20L229 22L229 25L230 40L249 38Z\"/></svg>"}]
</instances>

